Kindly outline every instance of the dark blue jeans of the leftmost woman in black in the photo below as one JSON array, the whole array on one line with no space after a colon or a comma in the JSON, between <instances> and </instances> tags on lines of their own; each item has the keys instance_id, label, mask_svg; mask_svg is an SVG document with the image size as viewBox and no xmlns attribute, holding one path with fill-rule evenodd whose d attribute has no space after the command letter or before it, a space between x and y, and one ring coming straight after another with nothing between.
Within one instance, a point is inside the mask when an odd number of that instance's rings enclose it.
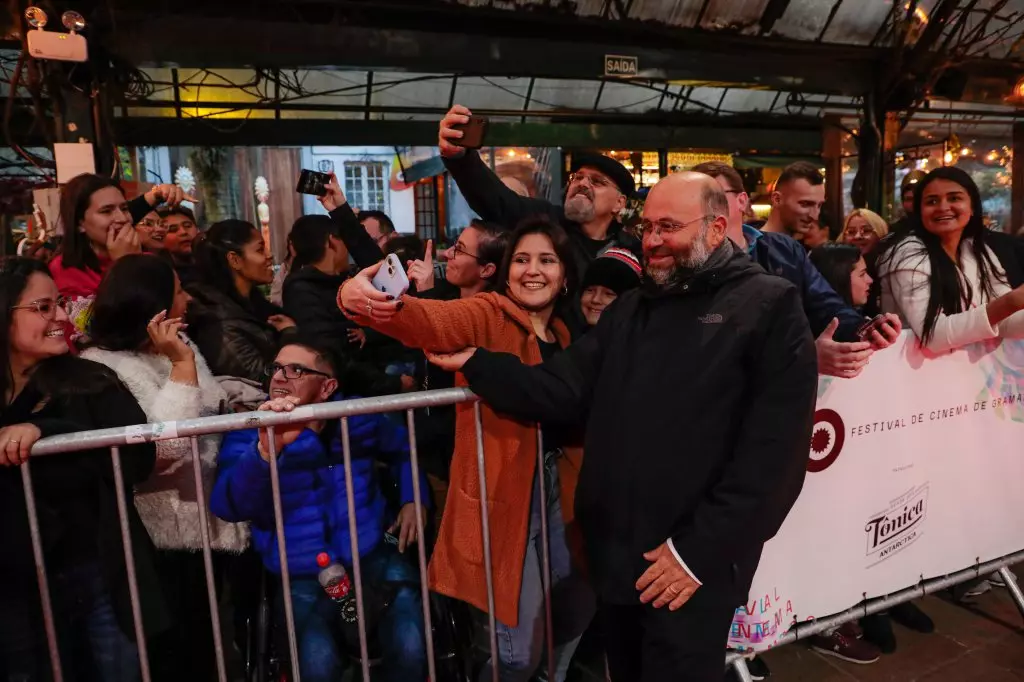
<instances>
[{"instance_id":1,"label":"dark blue jeans of the leftmost woman in black","mask_svg":"<svg viewBox=\"0 0 1024 682\"><path fill-rule=\"evenodd\" d=\"M66 568L50 579L66 680L134 682L138 647L118 624L98 563ZM45 646L45 644L44 644Z\"/></svg>"}]
</instances>

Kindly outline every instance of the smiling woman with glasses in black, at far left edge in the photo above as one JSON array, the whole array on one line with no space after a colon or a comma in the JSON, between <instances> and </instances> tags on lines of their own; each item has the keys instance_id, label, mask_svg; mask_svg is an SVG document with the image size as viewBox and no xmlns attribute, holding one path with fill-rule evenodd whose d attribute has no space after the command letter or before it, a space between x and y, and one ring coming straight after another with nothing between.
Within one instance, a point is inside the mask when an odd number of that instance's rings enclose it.
<instances>
[{"instance_id":1,"label":"smiling woman with glasses in black, at far left edge","mask_svg":"<svg viewBox=\"0 0 1024 682\"><path fill-rule=\"evenodd\" d=\"M117 376L68 354L68 316L45 265L0 264L0 679L49 677L31 536L17 470L32 445L54 433L129 426L145 414ZM148 477L152 443L122 449L125 489ZM33 491L66 680L136 680L117 493L106 449L41 457ZM146 635L166 629L153 546L125 500Z\"/></svg>"}]
</instances>

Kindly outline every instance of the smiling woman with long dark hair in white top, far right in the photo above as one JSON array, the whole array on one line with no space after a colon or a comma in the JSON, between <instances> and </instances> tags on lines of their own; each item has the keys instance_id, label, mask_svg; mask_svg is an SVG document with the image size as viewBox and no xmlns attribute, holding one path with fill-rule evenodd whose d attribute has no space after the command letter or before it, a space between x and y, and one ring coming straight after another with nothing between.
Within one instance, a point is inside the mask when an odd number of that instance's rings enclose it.
<instances>
[{"instance_id":1,"label":"smiling woman with long dark hair in white top, far right","mask_svg":"<svg viewBox=\"0 0 1024 682\"><path fill-rule=\"evenodd\" d=\"M912 220L908 233L883 245L883 311L898 313L932 352L1024 338L1020 247L985 227L971 176L952 167L929 173Z\"/></svg>"}]
</instances>

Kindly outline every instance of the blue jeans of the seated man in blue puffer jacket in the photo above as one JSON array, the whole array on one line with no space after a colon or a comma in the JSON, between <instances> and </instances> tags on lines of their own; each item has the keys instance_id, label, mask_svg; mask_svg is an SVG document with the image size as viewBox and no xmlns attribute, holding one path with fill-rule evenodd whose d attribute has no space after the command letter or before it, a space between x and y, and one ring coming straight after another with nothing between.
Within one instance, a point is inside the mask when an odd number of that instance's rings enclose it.
<instances>
[{"instance_id":1,"label":"blue jeans of the seated man in blue puffer jacket","mask_svg":"<svg viewBox=\"0 0 1024 682\"><path fill-rule=\"evenodd\" d=\"M361 559L362 580L367 585L402 584L381 616L377 632L367 633L371 643L375 639L379 643L381 653L381 666L379 671L374 671L373 679L383 682L426 680L426 634L419 576L407 558L390 545L381 545ZM347 569L351 574L351 566ZM339 641L335 626L338 606L315 578L297 578L292 580L292 608L302 679L338 682L345 669L342 644L345 649L358 651L358 642ZM279 627L284 628L284 605L280 598L276 620Z\"/></svg>"}]
</instances>

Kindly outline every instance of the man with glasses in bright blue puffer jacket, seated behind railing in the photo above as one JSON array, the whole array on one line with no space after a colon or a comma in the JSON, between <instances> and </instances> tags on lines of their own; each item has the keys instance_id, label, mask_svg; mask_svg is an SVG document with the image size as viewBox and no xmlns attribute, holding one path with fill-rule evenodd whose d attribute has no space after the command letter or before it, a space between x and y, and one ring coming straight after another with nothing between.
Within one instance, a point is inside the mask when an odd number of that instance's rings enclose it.
<instances>
[{"instance_id":1,"label":"man with glasses in bright blue puffer jacket, seated behind railing","mask_svg":"<svg viewBox=\"0 0 1024 682\"><path fill-rule=\"evenodd\" d=\"M297 404L340 397L335 379L337 368L331 360L330 351L317 346L303 342L281 349L270 368L270 400L260 410L291 412ZM418 530L409 438L406 429L384 415L350 417L348 426L362 583L377 594L382 590L389 596L393 594L389 605L380 613L377 630L383 654L380 678L402 682L425 680L419 578L413 564L401 555L407 546L417 541ZM340 434L336 421L307 422L274 429L300 672L303 680L313 682L336 682L341 679L344 669L335 628L338 607L316 580L321 570L316 556L322 552L341 562L349 576L352 574ZM210 509L224 520L249 521L253 544L263 564L267 570L281 573L269 452L265 430L226 434ZM397 549L384 541L385 500L375 459L387 462L398 481L401 509L388 528L398 539ZM426 479L421 478L421 486L423 492L429 489ZM372 604L367 606L372 608ZM278 623L284 624L280 597L275 612ZM355 643L346 644L353 646Z\"/></svg>"}]
</instances>

